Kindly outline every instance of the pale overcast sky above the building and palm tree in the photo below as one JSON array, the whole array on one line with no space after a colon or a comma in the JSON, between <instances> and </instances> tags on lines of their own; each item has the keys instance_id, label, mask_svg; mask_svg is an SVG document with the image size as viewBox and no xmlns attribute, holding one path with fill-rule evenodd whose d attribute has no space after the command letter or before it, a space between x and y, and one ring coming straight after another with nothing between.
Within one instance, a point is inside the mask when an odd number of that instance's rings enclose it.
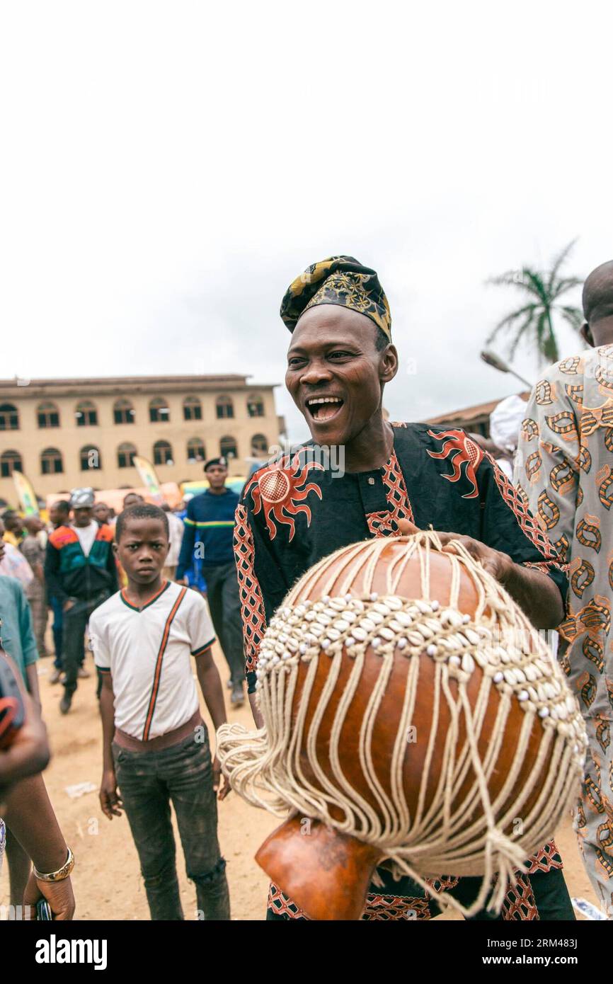
<instances>
[{"instance_id":1,"label":"pale overcast sky above the building and palm tree","mask_svg":"<svg viewBox=\"0 0 613 984\"><path fill-rule=\"evenodd\" d=\"M516 392L478 359L519 299L486 277L613 254L611 6L403 10L5 5L0 376L282 383L287 284L348 253L390 299L393 418Z\"/></svg>"}]
</instances>

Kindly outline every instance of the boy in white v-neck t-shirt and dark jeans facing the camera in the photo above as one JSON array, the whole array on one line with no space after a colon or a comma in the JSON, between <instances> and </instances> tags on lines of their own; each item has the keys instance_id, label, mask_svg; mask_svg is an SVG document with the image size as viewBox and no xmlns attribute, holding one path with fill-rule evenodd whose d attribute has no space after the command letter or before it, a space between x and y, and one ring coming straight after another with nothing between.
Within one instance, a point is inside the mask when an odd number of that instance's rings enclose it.
<instances>
[{"instance_id":1,"label":"boy in white v-neck t-shirt and dark jeans facing the camera","mask_svg":"<svg viewBox=\"0 0 613 984\"><path fill-rule=\"evenodd\" d=\"M165 513L149 504L118 517L115 551L128 585L92 613L90 638L102 676L102 812L125 810L139 852L152 919L183 919L170 823L174 807L201 919L229 919L225 861L217 840L211 761L192 656L215 729L225 721L211 646L215 633L200 592L164 581ZM120 795L117 793L119 787ZM223 799L229 787L219 792Z\"/></svg>"}]
</instances>

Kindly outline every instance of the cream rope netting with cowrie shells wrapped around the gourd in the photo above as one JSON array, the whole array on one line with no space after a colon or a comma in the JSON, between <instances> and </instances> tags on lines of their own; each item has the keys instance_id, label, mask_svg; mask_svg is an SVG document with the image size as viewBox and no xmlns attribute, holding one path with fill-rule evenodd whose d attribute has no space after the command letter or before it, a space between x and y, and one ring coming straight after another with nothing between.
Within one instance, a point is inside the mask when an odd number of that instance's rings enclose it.
<instances>
[{"instance_id":1,"label":"cream rope netting with cowrie shells wrapped around the gourd","mask_svg":"<svg viewBox=\"0 0 613 984\"><path fill-rule=\"evenodd\" d=\"M451 577L449 602L443 603L430 596L431 551L441 548L431 531L410 537L387 565L385 593L379 597L372 590L389 544L381 537L343 547L292 587L260 648L257 690L266 727L248 732L241 725L222 725L219 759L232 787L248 802L277 816L289 811L320 820L376 845L392 861L397 877L409 875L442 905L464 915L481 908L490 893L490 907L499 910L514 871L525 870L523 859L551 836L576 793L586 747L582 717L539 634L460 543L454 544L454 554L444 554ZM398 594L411 561L419 564L417 598ZM462 572L476 590L472 617L459 609ZM316 584L324 585L323 596L309 599ZM422 684L420 694L418 657L424 653L434 661L434 683L425 689ZM406 658L408 666L389 774L383 776L375 768L374 745L382 701L399 658ZM350 671L340 683L347 660ZM367 660L371 679L372 660L378 661L378 671L357 741L360 792L342 768L341 734ZM469 699L467 685L475 673L479 686ZM492 688L500 700L486 733ZM326 749L328 765L326 759L320 761L318 746L324 747L320 732L333 699L337 706ZM404 767L410 762L407 735L420 700L428 701L431 718L411 813ZM490 783L503 747L508 750L507 722L518 705L524 717L511 765L494 796ZM440 733L444 708L449 723ZM519 785L535 722L538 750ZM484 738L487 745L480 753ZM435 761L438 776L434 792L428 792ZM381 754L377 764L381 769ZM514 822L531 799L520 830L515 830ZM436 873L482 874L478 897L466 909L449 893L435 892L426 879Z\"/></svg>"}]
</instances>

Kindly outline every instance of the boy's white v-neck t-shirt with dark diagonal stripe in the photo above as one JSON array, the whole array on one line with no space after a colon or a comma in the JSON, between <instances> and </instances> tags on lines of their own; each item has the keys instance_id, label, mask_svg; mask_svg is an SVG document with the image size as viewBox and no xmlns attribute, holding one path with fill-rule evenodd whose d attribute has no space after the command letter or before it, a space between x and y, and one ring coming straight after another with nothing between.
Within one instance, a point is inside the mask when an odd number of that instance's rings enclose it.
<instances>
[{"instance_id":1,"label":"boy's white v-neck t-shirt with dark diagonal stripe","mask_svg":"<svg viewBox=\"0 0 613 984\"><path fill-rule=\"evenodd\" d=\"M181 727L198 710L194 666L215 643L209 605L198 591L166 581L143 608L117 591L90 619L95 665L110 672L115 726L147 741Z\"/></svg>"}]
</instances>

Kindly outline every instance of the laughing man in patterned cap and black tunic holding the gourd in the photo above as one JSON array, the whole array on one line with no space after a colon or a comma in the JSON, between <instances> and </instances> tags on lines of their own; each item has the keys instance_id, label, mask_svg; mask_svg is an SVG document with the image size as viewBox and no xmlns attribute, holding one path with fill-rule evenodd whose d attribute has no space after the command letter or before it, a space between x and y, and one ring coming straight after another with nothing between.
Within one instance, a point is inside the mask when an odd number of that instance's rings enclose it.
<instances>
[{"instance_id":1,"label":"laughing man in patterned cap and black tunic holding the gourd","mask_svg":"<svg viewBox=\"0 0 613 984\"><path fill-rule=\"evenodd\" d=\"M289 587L339 547L398 535L408 523L453 530L440 533L442 539L460 539L537 628L558 625L565 575L498 466L462 431L384 420L383 389L397 373L398 354L375 272L351 257L315 264L289 287L281 318L293 333L285 384L313 439L257 471L236 510L234 545L256 723L258 647ZM509 886L501 918L572 919L555 844L527 865L527 874L518 873L517 884ZM410 879L394 882L384 869L379 874L384 888L371 886L362 918L428 919L438 911ZM463 904L476 897L479 885L480 879L470 878L437 882ZM301 915L273 886L269 918Z\"/></svg>"}]
</instances>

